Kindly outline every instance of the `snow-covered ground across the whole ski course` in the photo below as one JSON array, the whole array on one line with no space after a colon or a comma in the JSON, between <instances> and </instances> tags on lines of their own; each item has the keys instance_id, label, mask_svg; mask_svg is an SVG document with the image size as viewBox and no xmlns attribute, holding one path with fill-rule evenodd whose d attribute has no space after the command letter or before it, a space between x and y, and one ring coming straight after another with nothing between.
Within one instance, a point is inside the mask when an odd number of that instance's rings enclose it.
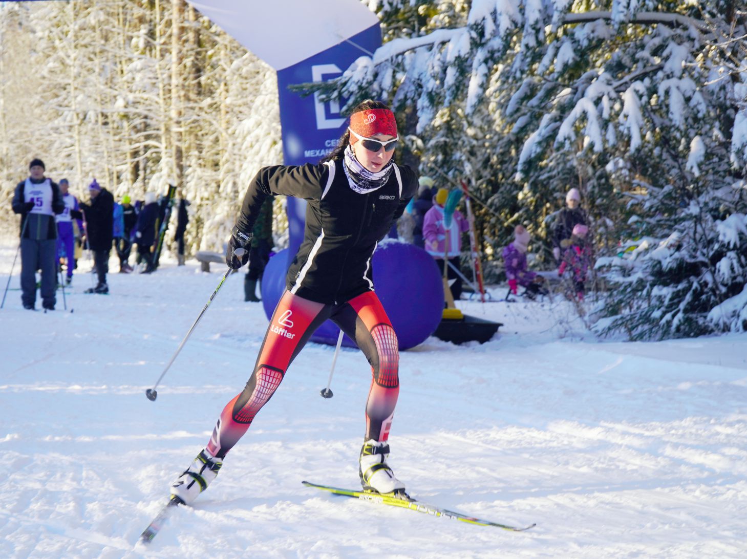
<instances>
[{"instance_id":1,"label":"snow-covered ground across the whole ski course","mask_svg":"<svg viewBox=\"0 0 747 559\"><path fill-rule=\"evenodd\" d=\"M15 247L0 250L4 288ZM114 264L114 259L112 260ZM86 262L82 268L87 270ZM116 266L113 266L116 269ZM598 342L563 303L471 303L484 345L400 356L391 465L415 498L512 533L308 489L356 487L371 372L310 344L192 508L134 547L241 391L267 327L229 277L167 260L82 271L52 313L0 311L0 556L7 558L737 558L747 555L747 336ZM18 287L18 268L11 288ZM498 297L503 291L495 289ZM40 306L37 302L37 306ZM69 312L73 309L74 312Z\"/></svg>"}]
</instances>

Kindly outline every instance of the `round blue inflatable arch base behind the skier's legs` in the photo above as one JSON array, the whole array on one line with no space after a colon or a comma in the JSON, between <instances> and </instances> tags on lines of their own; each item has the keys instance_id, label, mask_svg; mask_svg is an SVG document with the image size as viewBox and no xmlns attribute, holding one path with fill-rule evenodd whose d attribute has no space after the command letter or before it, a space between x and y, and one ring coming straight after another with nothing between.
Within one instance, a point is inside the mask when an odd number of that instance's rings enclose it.
<instances>
[{"instance_id":1,"label":"round blue inflatable arch base behind the skier's legs","mask_svg":"<svg viewBox=\"0 0 747 559\"><path fill-rule=\"evenodd\" d=\"M271 318L283 291L288 272L288 250L270 258L261 281L262 304ZM433 256L420 247L386 239L373 253L373 285L397 333L400 350L414 348L433 334L444 309L444 284ZM311 336L312 342L336 345L340 329L324 322ZM356 344L343 337L343 345Z\"/></svg>"}]
</instances>

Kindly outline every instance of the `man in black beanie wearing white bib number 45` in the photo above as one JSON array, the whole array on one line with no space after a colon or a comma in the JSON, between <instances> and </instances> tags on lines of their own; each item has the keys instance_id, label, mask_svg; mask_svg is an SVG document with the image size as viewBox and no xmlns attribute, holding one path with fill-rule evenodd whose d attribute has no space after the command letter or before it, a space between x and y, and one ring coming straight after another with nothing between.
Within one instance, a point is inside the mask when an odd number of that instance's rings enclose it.
<instances>
[{"instance_id":1,"label":"man in black beanie wearing white bib number 45","mask_svg":"<svg viewBox=\"0 0 747 559\"><path fill-rule=\"evenodd\" d=\"M44 176L41 159L28 165L28 179L16 185L13 211L21 214L21 301L34 310L37 299L37 270L42 271L42 306L55 310L57 291L57 223L55 214L65 211L60 188Z\"/></svg>"}]
</instances>

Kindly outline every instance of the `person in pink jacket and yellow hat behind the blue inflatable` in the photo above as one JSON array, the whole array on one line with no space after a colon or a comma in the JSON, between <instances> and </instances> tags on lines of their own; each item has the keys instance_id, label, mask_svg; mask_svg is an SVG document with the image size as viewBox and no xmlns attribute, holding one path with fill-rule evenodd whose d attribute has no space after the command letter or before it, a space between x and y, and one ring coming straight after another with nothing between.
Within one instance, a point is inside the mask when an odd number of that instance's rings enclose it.
<instances>
[{"instance_id":1,"label":"person in pink jacket and yellow hat behind the blue inflatable","mask_svg":"<svg viewBox=\"0 0 747 559\"><path fill-rule=\"evenodd\" d=\"M425 250L433 256L438 271L444 271L444 257L448 259L446 277L453 280L450 284L454 300L462 297L462 277L459 276L460 256L462 255L462 233L469 230L469 223L459 210L454 210L451 226L444 228L444 204L449 191L439 188L433 197L433 208L428 210L423 220L423 237Z\"/></svg>"}]
</instances>

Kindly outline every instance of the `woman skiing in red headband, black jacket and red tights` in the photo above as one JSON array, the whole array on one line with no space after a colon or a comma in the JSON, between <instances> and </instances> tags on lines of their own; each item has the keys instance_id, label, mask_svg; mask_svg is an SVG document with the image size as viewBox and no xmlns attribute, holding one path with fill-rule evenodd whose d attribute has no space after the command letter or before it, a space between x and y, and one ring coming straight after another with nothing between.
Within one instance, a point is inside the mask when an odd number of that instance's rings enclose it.
<instances>
[{"instance_id":1,"label":"woman skiing in red headband, black jacket and red tights","mask_svg":"<svg viewBox=\"0 0 747 559\"><path fill-rule=\"evenodd\" d=\"M278 388L288 366L327 319L356 341L371 364L366 432L359 456L365 489L404 494L387 465L387 439L400 392L397 335L373 291L371 255L418 190L418 177L392 161L397 123L382 102L366 100L350 116L337 148L319 164L264 167L252 179L232 230L226 263L249 259L252 226L268 196L307 200L303 244L244 391L226 405L208 445L171 486L172 499L191 503L217 476L223 457L247 432ZM241 256L235 250L246 252Z\"/></svg>"}]
</instances>

